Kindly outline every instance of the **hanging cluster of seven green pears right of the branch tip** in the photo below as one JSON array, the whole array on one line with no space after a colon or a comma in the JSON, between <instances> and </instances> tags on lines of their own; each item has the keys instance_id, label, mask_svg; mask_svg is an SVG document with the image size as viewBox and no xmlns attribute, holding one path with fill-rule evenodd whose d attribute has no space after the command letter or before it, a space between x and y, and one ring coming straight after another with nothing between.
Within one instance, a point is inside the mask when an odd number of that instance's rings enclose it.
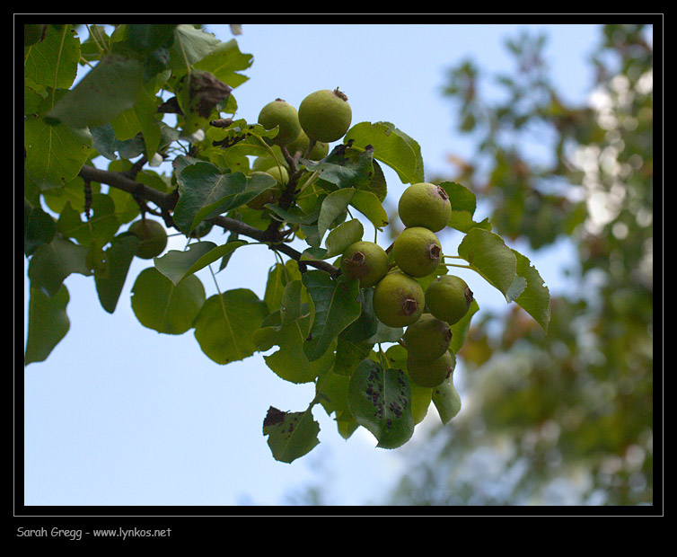
<instances>
[{"instance_id":1,"label":"hanging cluster of seven green pears right of the branch tip","mask_svg":"<svg viewBox=\"0 0 677 557\"><path fill-rule=\"evenodd\" d=\"M374 287L374 313L389 327L406 327L409 377L435 387L452 372L451 325L461 321L472 303L472 292L459 277L442 275L424 288L418 279L435 273L443 262L435 233L447 225L452 206L440 186L419 182L402 193L398 205L404 230L392 243L393 265L377 243L357 242L344 252L340 269L360 287Z\"/></svg>"}]
</instances>

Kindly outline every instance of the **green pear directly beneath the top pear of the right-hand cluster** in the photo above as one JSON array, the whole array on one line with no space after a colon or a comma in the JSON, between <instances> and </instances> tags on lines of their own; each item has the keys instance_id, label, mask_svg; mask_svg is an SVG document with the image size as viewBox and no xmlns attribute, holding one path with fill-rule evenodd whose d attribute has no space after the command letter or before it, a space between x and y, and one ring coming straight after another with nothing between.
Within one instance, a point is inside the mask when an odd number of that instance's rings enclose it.
<instances>
[{"instance_id":1,"label":"green pear directly beneath the top pear of the right-hand cluster","mask_svg":"<svg viewBox=\"0 0 677 557\"><path fill-rule=\"evenodd\" d=\"M405 228L392 244L395 264L412 277L426 277L442 261L442 245L432 230Z\"/></svg>"}]
</instances>

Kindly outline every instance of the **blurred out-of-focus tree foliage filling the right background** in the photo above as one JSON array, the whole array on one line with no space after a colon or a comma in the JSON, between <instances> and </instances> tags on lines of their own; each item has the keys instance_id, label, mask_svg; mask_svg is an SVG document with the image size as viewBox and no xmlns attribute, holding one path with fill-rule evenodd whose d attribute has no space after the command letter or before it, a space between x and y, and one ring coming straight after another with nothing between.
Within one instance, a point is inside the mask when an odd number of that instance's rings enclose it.
<instances>
[{"instance_id":1,"label":"blurred out-of-focus tree foliage filling the right background","mask_svg":"<svg viewBox=\"0 0 677 557\"><path fill-rule=\"evenodd\" d=\"M476 150L440 180L488 199L503 237L572 243L574 287L553 296L547 335L520 308L473 323L462 411L407 449L390 504L654 502L653 28L600 29L585 105L552 83L546 36L506 43L515 67L494 76L498 101L471 60L449 71L444 94Z\"/></svg>"}]
</instances>

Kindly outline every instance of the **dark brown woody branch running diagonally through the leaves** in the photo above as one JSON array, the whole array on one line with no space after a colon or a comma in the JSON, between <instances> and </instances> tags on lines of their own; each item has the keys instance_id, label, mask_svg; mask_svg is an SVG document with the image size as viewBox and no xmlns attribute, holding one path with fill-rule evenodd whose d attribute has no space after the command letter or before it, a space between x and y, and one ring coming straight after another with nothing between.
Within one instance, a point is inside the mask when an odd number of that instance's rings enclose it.
<instances>
[{"instance_id":1,"label":"dark brown woody branch running diagonally through the leaves","mask_svg":"<svg viewBox=\"0 0 677 557\"><path fill-rule=\"evenodd\" d=\"M127 191L127 193L133 195L136 198L144 199L145 201L151 201L157 207L159 207L163 212L163 217L167 225L173 225L171 221L170 213L176 205L178 196L174 193L163 193L159 190L154 190L149 188L140 181L132 180L122 174L121 172L112 172L108 170L101 170L95 168L88 164L85 164L80 170L80 176L84 181L98 181L99 183L106 184L118 190ZM168 221L169 217L169 221ZM274 242L271 241L268 231L259 230L254 228L251 225L243 223L240 220L224 217L219 215L218 217L213 217L209 219L214 225L221 226L224 230L230 232L235 232L237 234L242 234L253 240L256 240L261 243L267 243L268 247L271 250L284 253L288 257L291 257L293 260L298 261L300 268L303 270L303 266L314 267L315 269L324 270L332 276L336 276L339 273L339 269L327 261L315 261L315 260L301 260L302 253L295 250L292 246L283 242ZM174 226L175 227L175 226Z\"/></svg>"}]
</instances>

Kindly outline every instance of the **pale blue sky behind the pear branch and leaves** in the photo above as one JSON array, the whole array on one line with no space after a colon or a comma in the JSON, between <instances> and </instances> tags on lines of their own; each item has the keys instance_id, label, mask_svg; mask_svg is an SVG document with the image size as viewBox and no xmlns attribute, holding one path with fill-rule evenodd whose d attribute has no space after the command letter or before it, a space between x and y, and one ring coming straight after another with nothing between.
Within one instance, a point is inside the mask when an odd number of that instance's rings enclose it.
<instances>
[{"instance_id":1,"label":"pale blue sky behind the pear branch and leaves","mask_svg":"<svg viewBox=\"0 0 677 557\"><path fill-rule=\"evenodd\" d=\"M236 116L255 121L277 97L298 106L308 93L338 86L347 93L354 123L392 122L418 141L426 175L451 172L446 155L470 155L471 146L455 132L453 107L441 94L446 69L465 57L488 74L511 69L504 41L527 28L547 32L545 51L565 99L584 99L592 83L586 59L600 36L596 25L244 24L236 40L254 63L244 72L251 79L233 91ZM207 29L221 40L233 38L227 25ZM389 202L396 203L406 186L386 172ZM451 233L442 239L445 252L452 252L460 238ZM178 237L170 247L184 243ZM532 256L551 293L567 288L567 246L538 257L522 245L512 247ZM219 288L249 287L263 297L273 263L263 246L238 250L217 275ZM324 479L331 504L379 502L406 450L375 448L364 429L346 441L316 407L321 444L293 464L275 461L261 432L268 406L303 410L312 385L282 381L260 355L218 366L192 332L145 329L131 310L130 289L151 265L134 261L112 315L101 308L91 278L66 279L70 331L45 362L24 372L25 504L279 505ZM506 306L477 275L459 275L480 308ZM211 277L199 277L207 296L215 293ZM24 315L27 292L24 281ZM424 424L436 419L431 407Z\"/></svg>"}]
</instances>

